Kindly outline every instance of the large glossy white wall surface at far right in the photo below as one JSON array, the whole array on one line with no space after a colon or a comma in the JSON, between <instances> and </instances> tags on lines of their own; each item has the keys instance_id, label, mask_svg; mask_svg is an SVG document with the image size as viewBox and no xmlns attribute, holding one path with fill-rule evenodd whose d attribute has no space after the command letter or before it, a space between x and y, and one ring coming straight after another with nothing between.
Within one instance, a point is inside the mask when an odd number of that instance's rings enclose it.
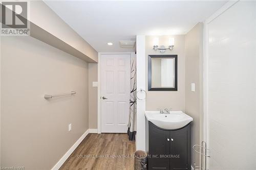
<instances>
[{"instance_id":1,"label":"large glossy white wall surface at far right","mask_svg":"<svg viewBox=\"0 0 256 170\"><path fill-rule=\"evenodd\" d=\"M256 169L256 2L208 25L209 169Z\"/></svg>"}]
</instances>

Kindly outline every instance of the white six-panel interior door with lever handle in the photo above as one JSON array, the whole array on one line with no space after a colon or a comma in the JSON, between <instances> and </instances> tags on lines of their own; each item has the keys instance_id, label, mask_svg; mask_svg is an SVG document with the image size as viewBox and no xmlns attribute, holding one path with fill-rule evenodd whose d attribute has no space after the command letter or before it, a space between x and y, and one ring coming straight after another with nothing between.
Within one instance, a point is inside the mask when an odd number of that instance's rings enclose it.
<instances>
[{"instance_id":1,"label":"white six-panel interior door with lever handle","mask_svg":"<svg viewBox=\"0 0 256 170\"><path fill-rule=\"evenodd\" d=\"M101 55L101 132L126 133L130 103L130 54Z\"/></svg>"}]
</instances>

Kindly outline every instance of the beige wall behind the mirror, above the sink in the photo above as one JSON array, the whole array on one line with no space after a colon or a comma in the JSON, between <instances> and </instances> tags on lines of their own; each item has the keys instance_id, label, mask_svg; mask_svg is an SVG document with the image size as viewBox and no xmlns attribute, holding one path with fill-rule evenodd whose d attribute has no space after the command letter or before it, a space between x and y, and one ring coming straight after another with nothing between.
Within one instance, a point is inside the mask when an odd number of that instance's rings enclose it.
<instances>
[{"instance_id":1,"label":"beige wall behind the mirror, above the sink","mask_svg":"<svg viewBox=\"0 0 256 170\"><path fill-rule=\"evenodd\" d=\"M147 57L150 54L161 54L155 52L153 48L156 36L145 37L145 57L146 57L146 110L159 110L172 108L173 110L185 111L185 35L157 36L159 45L168 45L169 37L175 38L173 51L166 51L164 54L178 55L178 91L147 91Z\"/></svg>"}]
</instances>

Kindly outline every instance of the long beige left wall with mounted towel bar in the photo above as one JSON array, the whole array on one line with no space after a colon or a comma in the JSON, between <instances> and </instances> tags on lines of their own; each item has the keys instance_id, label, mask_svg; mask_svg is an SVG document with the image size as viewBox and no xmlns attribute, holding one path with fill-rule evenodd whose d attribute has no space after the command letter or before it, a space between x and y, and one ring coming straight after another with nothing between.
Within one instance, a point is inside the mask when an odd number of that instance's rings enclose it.
<instances>
[{"instance_id":1,"label":"long beige left wall with mounted towel bar","mask_svg":"<svg viewBox=\"0 0 256 170\"><path fill-rule=\"evenodd\" d=\"M51 169L89 128L88 63L32 37L1 37L1 91L1 166Z\"/></svg>"}]
</instances>

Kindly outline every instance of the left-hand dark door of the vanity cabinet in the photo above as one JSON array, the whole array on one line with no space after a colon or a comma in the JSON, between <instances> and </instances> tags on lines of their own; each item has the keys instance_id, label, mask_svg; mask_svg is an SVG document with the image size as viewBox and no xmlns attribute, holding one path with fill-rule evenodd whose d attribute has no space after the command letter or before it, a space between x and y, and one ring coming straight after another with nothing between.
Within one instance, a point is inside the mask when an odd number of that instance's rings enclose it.
<instances>
[{"instance_id":1,"label":"left-hand dark door of the vanity cabinet","mask_svg":"<svg viewBox=\"0 0 256 170\"><path fill-rule=\"evenodd\" d=\"M170 159L160 158L163 155L169 155L170 150L170 132L156 128L151 122L148 126L148 169L169 169Z\"/></svg>"}]
</instances>

